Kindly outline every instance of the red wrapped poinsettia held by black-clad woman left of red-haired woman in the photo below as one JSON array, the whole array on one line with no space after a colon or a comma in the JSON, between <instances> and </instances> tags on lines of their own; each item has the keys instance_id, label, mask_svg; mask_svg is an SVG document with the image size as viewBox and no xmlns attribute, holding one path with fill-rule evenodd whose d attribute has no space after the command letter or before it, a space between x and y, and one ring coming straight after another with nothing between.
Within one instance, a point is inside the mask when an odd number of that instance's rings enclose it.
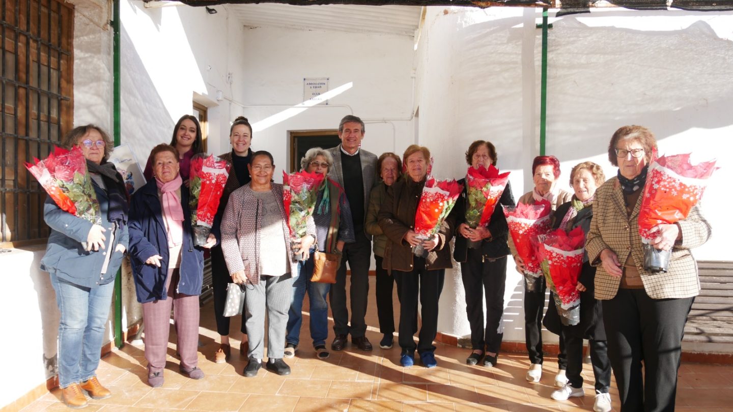
<instances>
[{"instance_id":1,"label":"red wrapped poinsettia held by black-clad woman left of red-haired woman","mask_svg":"<svg viewBox=\"0 0 733 412\"><path fill-rule=\"evenodd\" d=\"M489 165L486 169L479 166L478 169L468 167L465 175L466 185L466 207L465 207L465 223L476 229L476 227L486 227L491 220L496 204L504 193L509 180L509 172L499 174L496 166Z\"/></svg>"}]
</instances>

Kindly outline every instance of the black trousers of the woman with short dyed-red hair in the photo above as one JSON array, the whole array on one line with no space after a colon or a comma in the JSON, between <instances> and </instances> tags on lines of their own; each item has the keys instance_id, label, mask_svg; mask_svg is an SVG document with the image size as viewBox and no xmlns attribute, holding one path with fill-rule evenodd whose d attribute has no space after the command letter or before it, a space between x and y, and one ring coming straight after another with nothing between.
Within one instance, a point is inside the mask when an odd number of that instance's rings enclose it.
<instances>
[{"instance_id":1,"label":"black trousers of the woman with short dyed-red hair","mask_svg":"<svg viewBox=\"0 0 733 412\"><path fill-rule=\"evenodd\" d=\"M528 291L524 289L524 339L527 344L529 360L533 364L542 364L544 353L542 352L542 314L545 313L545 278L539 279L542 286L539 290ZM524 281L522 281L524 283ZM567 369L567 356L565 354L565 342L560 335L560 352L557 354L559 369Z\"/></svg>"}]
</instances>

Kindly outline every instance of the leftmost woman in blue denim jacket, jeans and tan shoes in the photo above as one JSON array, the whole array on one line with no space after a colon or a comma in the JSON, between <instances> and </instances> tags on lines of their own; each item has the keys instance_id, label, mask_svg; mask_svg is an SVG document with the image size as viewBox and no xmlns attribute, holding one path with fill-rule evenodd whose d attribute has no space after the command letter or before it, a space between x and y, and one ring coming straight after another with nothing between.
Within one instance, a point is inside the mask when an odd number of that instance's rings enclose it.
<instances>
[{"instance_id":1,"label":"leftmost woman in blue denim jacket, jeans and tan shoes","mask_svg":"<svg viewBox=\"0 0 733 412\"><path fill-rule=\"evenodd\" d=\"M62 141L80 147L100 205L101 224L61 210L48 197L43 218L51 227L41 269L51 275L59 305L59 386L62 401L84 408L84 391L94 399L111 393L96 377L105 323L122 256L128 246L125 182L112 163L108 134L95 125L79 126Z\"/></svg>"}]
</instances>

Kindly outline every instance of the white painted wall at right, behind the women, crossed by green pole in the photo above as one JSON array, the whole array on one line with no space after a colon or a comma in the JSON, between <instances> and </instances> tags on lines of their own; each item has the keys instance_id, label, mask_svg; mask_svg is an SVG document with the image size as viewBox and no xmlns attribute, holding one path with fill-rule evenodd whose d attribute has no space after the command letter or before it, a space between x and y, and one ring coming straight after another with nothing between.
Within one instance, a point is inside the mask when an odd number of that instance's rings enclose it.
<instances>
[{"instance_id":1,"label":"white painted wall at right, behind the women, crossed by green pole","mask_svg":"<svg viewBox=\"0 0 733 412\"><path fill-rule=\"evenodd\" d=\"M434 150L438 177L464 174L468 144L488 139L499 169L512 171L515 199L531 189L529 167L539 154L539 18L531 9L428 8L416 103L419 141ZM546 152L561 160L561 185L570 188L570 169L585 160L615 175L608 140L627 124L653 130L662 153L693 152L698 161L717 156L723 168L703 203L715 235L694 253L728 260L723 239L732 225L723 218L723 191L733 170L723 155L733 145L733 13L614 8L553 20ZM446 273L439 330L463 336L470 331L459 277L460 268ZM504 339L521 342L520 280L509 268Z\"/></svg>"}]
</instances>

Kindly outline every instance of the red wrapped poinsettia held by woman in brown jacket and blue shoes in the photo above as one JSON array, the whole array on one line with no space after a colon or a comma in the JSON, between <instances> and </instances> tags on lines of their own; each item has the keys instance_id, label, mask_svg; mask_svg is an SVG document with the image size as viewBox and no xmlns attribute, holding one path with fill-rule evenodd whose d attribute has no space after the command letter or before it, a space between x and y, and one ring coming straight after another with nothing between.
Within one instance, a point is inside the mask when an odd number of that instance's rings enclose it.
<instances>
[{"instance_id":1,"label":"red wrapped poinsettia held by woman in brown jacket and blue shoes","mask_svg":"<svg viewBox=\"0 0 733 412\"><path fill-rule=\"evenodd\" d=\"M428 177L415 213L415 232L425 238L435 235L462 191L463 185L454 179Z\"/></svg>"}]
</instances>

